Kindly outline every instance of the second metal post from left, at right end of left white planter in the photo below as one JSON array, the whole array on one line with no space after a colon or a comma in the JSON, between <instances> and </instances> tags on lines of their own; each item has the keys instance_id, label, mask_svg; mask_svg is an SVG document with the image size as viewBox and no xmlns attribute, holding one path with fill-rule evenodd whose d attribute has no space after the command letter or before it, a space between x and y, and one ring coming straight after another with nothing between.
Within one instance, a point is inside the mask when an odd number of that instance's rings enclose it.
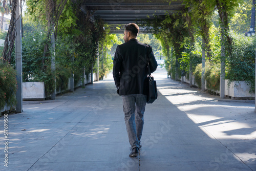
<instances>
[{"instance_id":1,"label":"second metal post from left, at right end of left white planter","mask_svg":"<svg viewBox=\"0 0 256 171\"><path fill-rule=\"evenodd\" d=\"M55 35L54 35L54 24L52 24L52 30L51 30L51 46L52 46L52 58L51 58L51 71L54 75L54 90L52 93L51 99L55 99L56 97L56 78L55 78Z\"/></svg>"}]
</instances>

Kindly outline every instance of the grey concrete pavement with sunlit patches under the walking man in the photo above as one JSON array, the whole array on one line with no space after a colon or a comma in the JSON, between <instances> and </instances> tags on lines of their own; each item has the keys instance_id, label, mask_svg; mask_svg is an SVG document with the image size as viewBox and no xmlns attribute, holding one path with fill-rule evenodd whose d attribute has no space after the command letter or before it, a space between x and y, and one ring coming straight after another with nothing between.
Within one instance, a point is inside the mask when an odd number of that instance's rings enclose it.
<instances>
[{"instance_id":1,"label":"grey concrete pavement with sunlit patches under the walking man","mask_svg":"<svg viewBox=\"0 0 256 171\"><path fill-rule=\"evenodd\" d=\"M256 170L254 104L218 101L158 69L140 155L130 158L121 97L108 78L0 117L0 170Z\"/></svg>"}]
</instances>

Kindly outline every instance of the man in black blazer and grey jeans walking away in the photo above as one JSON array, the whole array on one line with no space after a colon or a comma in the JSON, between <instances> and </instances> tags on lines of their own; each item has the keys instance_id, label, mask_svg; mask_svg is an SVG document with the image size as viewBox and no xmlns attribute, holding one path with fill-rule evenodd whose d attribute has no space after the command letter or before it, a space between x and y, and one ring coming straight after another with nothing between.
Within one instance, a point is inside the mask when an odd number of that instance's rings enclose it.
<instances>
[{"instance_id":1,"label":"man in black blazer and grey jeans walking away","mask_svg":"<svg viewBox=\"0 0 256 171\"><path fill-rule=\"evenodd\" d=\"M130 23L125 26L124 44L117 46L114 57L113 77L117 93L122 96L124 121L131 144L130 157L139 155L140 139L144 124L147 77L147 60L150 71L157 69L152 47L142 44L136 38L139 27Z\"/></svg>"}]
</instances>

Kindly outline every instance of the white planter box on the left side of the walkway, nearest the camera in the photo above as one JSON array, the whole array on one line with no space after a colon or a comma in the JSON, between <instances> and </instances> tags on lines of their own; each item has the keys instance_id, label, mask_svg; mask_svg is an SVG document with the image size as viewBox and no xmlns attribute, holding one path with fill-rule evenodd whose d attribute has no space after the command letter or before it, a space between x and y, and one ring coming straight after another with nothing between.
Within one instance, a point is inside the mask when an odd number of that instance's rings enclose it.
<instances>
[{"instance_id":1,"label":"white planter box on the left side of the walkway, nearest the camera","mask_svg":"<svg viewBox=\"0 0 256 171\"><path fill-rule=\"evenodd\" d=\"M24 100L44 100L45 82L23 82L23 99Z\"/></svg>"}]
</instances>

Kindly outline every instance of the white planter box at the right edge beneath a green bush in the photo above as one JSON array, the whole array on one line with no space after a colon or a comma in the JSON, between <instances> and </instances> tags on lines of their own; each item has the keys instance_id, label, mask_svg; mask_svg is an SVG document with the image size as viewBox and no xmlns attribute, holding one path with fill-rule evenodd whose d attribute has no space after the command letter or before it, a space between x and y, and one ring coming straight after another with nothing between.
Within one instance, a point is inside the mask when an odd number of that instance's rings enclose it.
<instances>
[{"instance_id":1,"label":"white planter box at the right edge beneath a green bush","mask_svg":"<svg viewBox=\"0 0 256 171\"><path fill-rule=\"evenodd\" d=\"M228 87L228 80L225 79L225 95L231 98L250 98L255 97L254 93L250 93L250 88L246 81L233 81Z\"/></svg>"}]
</instances>

